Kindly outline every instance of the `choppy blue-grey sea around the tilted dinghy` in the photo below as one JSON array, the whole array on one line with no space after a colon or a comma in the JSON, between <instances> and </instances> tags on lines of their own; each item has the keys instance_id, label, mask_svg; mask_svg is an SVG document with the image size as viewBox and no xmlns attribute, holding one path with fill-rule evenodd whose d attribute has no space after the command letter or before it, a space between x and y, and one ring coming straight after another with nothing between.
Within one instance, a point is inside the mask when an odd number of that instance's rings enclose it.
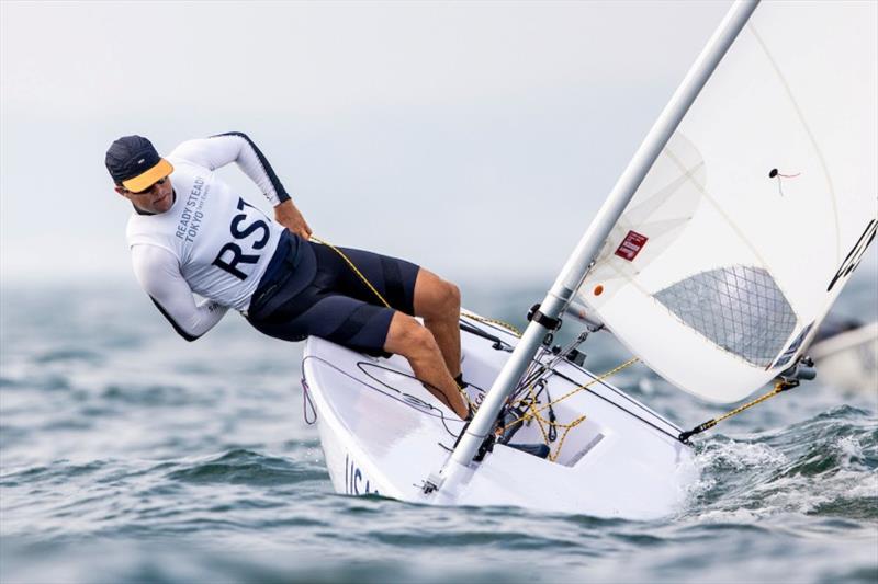
<instances>
[{"instance_id":1,"label":"choppy blue-grey sea around the tilted dinghy","mask_svg":"<svg viewBox=\"0 0 878 584\"><path fill-rule=\"evenodd\" d=\"M878 318L856 274L837 313ZM521 324L540 284L461 283ZM818 377L697 442L673 517L437 508L334 493L301 345L238 317L179 339L132 280L0 289L0 582L878 582L878 387ZM627 358L594 336L586 366ZM724 411L644 369L683 426ZM878 380L876 381L878 385Z\"/></svg>"}]
</instances>

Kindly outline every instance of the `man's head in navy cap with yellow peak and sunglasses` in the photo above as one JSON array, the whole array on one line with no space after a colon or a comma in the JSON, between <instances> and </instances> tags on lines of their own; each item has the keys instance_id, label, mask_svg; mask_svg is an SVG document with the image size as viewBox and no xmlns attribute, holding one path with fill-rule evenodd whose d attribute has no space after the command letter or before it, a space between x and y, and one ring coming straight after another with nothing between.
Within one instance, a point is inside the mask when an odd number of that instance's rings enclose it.
<instances>
[{"instance_id":1,"label":"man's head in navy cap with yellow peak and sunglasses","mask_svg":"<svg viewBox=\"0 0 878 584\"><path fill-rule=\"evenodd\" d=\"M168 178L170 162L158 156L153 144L142 136L123 136L106 150L106 170L115 191L147 213L165 213L173 204Z\"/></svg>"}]
</instances>

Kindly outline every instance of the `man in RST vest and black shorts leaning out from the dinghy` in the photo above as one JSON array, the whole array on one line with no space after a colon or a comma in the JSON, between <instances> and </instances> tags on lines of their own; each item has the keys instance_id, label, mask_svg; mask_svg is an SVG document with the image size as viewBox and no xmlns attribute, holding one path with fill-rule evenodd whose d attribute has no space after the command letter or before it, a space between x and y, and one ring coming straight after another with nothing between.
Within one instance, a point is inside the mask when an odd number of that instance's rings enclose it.
<instances>
[{"instance_id":1,"label":"man in RST vest and black shorts leaning out from the dinghy","mask_svg":"<svg viewBox=\"0 0 878 584\"><path fill-rule=\"evenodd\" d=\"M216 176L230 162L274 206L274 221ZM246 135L189 140L167 158L146 138L125 136L105 163L116 193L134 206L127 240L137 279L185 340L232 308L277 339L313 334L370 354L403 355L434 396L461 419L471 413L458 385L457 286L403 260L339 249L385 307L337 251L309 241L308 224ZM193 293L205 300L195 304Z\"/></svg>"}]
</instances>

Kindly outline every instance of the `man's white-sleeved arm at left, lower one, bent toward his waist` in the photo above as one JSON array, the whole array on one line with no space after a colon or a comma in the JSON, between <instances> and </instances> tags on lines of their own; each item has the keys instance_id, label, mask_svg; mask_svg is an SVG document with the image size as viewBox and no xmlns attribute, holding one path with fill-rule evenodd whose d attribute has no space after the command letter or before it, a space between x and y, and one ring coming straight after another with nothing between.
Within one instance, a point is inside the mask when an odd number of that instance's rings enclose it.
<instances>
[{"instance_id":1,"label":"man's white-sleeved arm at left, lower one, bent toward his waist","mask_svg":"<svg viewBox=\"0 0 878 584\"><path fill-rule=\"evenodd\" d=\"M213 300L195 305L192 289L180 274L171 252L155 245L134 245L131 250L134 274L153 302L187 341L206 333L228 310Z\"/></svg>"}]
</instances>

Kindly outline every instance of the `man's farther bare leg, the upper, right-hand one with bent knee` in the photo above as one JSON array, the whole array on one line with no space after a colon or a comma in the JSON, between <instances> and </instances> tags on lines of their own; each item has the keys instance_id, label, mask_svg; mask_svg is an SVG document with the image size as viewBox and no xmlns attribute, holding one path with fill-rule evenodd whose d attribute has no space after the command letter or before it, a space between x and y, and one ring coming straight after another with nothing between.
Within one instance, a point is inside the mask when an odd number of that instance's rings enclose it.
<instances>
[{"instance_id":1,"label":"man's farther bare leg, the upper, right-hand one with bent knee","mask_svg":"<svg viewBox=\"0 0 878 584\"><path fill-rule=\"evenodd\" d=\"M460 375L460 290L432 272L418 271L415 316L424 317L442 353L451 377Z\"/></svg>"}]
</instances>

